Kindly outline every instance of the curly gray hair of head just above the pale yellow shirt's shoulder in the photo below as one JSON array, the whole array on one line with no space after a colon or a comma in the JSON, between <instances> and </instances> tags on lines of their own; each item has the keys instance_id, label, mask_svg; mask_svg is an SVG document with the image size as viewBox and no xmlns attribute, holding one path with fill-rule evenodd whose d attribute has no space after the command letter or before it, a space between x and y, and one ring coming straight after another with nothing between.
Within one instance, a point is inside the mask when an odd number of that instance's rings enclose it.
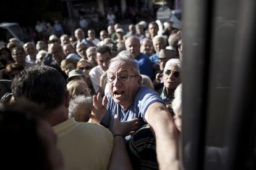
<instances>
[{"instance_id":1,"label":"curly gray hair of head just above the pale yellow shirt's shoulder","mask_svg":"<svg viewBox=\"0 0 256 170\"><path fill-rule=\"evenodd\" d=\"M85 106L87 106L87 108L90 108L90 110L88 110L88 113L91 113L91 108L93 107L92 97L85 97L85 95L75 96L69 101L69 117L75 117L75 115L79 114L80 108Z\"/></svg>"}]
</instances>

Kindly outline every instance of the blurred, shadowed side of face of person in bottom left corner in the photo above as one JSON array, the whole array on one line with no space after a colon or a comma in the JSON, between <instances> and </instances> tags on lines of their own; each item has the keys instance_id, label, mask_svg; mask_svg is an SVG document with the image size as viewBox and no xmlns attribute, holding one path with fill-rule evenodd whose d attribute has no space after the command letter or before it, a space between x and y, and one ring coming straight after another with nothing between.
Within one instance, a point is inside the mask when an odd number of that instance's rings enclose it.
<instances>
[{"instance_id":1,"label":"blurred, shadowed side of face of person in bottom left corner","mask_svg":"<svg viewBox=\"0 0 256 170\"><path fill-rule=\"evenodd\" d=\"M38 136L45 145L45 153L51 169L64 169L64 161L61 151L57 148L57 136L51 126L45 121L38 122Z\"/></svg>"}]
</instances>

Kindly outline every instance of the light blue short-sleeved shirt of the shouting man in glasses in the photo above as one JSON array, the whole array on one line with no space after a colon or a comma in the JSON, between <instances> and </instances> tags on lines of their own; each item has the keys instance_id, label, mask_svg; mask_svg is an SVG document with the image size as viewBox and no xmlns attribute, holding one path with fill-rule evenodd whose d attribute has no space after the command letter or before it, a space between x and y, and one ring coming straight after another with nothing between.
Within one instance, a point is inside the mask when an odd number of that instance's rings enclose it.
<instances>
[{"instance_id":1,"label":"light blue short-sleeved shirt of the shouting man in glasses","mask_svg":"<svg viewBox=\"0 0 256 170\"><path fill-rule=\"evenodd\" d=\"M114 102L111 95L108 94L108 104L106 108L106 113L101 121L101 123L108 127L110 131L113 130L114 115L118 115L119 121L124 122L134 118L142 118L145 121L145 113L148 107L155 102L163 103L158 92L147 86L140 86L137 95L135 96L134 102L126 110ZM126 139L129 139L127 137Z\"/></svg>"}]
</instances>

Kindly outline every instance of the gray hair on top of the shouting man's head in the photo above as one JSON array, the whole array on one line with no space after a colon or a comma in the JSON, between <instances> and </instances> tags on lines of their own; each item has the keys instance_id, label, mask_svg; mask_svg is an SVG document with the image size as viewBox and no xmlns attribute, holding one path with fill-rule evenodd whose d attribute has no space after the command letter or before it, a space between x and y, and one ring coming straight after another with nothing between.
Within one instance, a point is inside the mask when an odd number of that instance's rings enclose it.
<instances>
[{"instance_id":1,"label":"gray hair on top of the shouting man's head","mask_svg":"<svg viewBox=\"0 0 256 170\"><path fill-rule=\"evenodd\" d=\"M109 61L108 68L110 67L110 65L112 63L117 62L117 61L122 61L122 62L125 62L128 65L132 66L132 70L134 70L135 74L140 75L140 70L139 70L137 63L134 60L129 59L129 57L127 55L119 55L118 54L116 57L114 57L113 59L111 59Z\"/></svg>"}]
</instances>

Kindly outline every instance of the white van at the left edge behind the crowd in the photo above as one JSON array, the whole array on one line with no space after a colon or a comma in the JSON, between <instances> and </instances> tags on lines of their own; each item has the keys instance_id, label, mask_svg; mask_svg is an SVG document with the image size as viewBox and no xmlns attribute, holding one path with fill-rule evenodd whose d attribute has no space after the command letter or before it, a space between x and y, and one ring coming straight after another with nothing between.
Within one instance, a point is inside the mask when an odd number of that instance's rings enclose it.
<instances>
[{"instance_id":1,"label":"white van at the left edge behind the crowd","mask_svg":"<svg viewBox=\"0 0 256 170\"><path fill-rule=\"evenodd\" d=\"M22 45L24 42L32 41L32 38L18 23L0 23L0 47L6 45L11 38L19 39Z\"/></svg>"}]
</instances>

